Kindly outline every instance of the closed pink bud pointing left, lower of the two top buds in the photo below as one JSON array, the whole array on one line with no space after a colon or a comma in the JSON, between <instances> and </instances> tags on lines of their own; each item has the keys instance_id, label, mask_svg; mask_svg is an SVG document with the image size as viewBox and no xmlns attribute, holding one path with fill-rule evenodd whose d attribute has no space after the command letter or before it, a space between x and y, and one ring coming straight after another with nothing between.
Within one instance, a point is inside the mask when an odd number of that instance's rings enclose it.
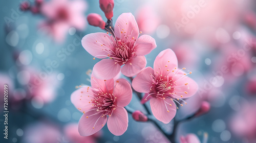
<instances>
[{"instance_id":1,"label":"closed pink bud pointing left, lower of the two top buds","mask_svg":"<svg viewBox=\"0 0 256 143\"><path fill-rule=\"evenodd\" d=\"M97 13L90 13L87 16L87 21L91 26L99 27L101 29L105 28L105 22L102 20L101 16Z\"/></svg>"}]
</instances>

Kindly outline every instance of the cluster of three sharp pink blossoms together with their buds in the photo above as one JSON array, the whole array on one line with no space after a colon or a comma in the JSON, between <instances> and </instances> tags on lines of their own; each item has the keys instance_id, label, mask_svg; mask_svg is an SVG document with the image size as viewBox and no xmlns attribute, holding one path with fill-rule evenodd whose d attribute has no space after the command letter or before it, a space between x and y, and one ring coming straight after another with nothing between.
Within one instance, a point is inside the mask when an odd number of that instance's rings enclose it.
<instances>
[{"instance_id":1,"label":"cluster of three sharp pink blossoms together with their buds","mask_svg":"<svg viewBox=\"0 0 256 143\"><path fill-rule=\"evenodd\" d=\"M99 14L88 15L92 26L105 29L106 33L91 33L82 38L82 46L95 59L102 59L92 70L91 86L83 85L71 95L75 107L83 113L78 124L80 135L89 136L99 131L106 123L111 133L122 135L128 126L125 110L132 99L133 89L145 93L153 115L164 124L176 114L179 102L193 96L197 83L178 68L178 60L171 49L159 53L154 68L146 67L145 55L156 48L156 41L149 35L141 35L132 13L122 13L113 27L114 1L99 1L108 21ZM118 79L121 73L134 77L132 83ZM133 79L133 78L132 78ZM132 87L131 87L132 84ZM143 102L145 103L145 102ZM140 111L133 114L136 121L147 121Z\"/></svg>"}]
</instances>

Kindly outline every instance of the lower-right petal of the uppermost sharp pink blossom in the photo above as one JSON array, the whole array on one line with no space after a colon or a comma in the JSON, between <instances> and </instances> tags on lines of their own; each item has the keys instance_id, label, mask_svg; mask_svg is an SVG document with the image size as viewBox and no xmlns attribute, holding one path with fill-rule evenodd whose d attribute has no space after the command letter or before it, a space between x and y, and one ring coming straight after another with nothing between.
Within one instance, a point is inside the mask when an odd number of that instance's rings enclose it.
<instances>
[{"instance_id":1,"label":"lower-right petal of the uppermost sharp pink blossom","mask_svg":"<svg viewBox=\"0 0 256 143\"><path fill-rule=\"evenodd\" d=\"M125 63L121 68L124 76L133 77L137 75L146 66L145 56L136 56Z\"/></svg>"}]
</instances>

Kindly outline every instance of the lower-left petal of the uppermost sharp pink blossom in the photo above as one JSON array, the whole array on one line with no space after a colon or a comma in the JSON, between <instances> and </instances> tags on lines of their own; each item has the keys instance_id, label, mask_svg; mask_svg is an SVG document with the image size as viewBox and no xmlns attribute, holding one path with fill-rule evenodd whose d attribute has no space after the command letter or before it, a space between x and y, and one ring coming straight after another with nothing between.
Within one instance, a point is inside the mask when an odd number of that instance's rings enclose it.
<instances>
[{"instance_id":1,"label":"lower-left petal of the uppermost sharp pink blossom","mask_svg":"<svg viewBox=\"0 0 256 143\"><path fill-rule=\"evenodd\" d=\"M114 60L102 59L93 67L93 75L97 79L108 80L114 78L120 71L121 66L116 64Z\"/></svg>"}]
</instances>

